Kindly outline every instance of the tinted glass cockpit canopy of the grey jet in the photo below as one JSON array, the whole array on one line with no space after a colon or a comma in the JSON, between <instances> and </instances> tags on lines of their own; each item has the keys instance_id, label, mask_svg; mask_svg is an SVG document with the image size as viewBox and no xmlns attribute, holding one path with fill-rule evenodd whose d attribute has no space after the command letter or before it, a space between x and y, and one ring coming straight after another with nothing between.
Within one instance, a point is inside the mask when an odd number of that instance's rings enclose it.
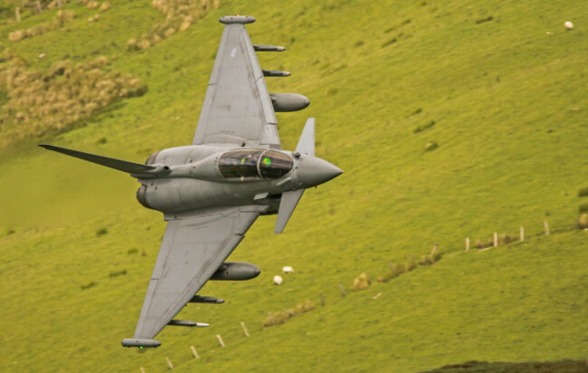
<instances>
[{"instance_id":1,"label":"tinted glass cockpit canopy of the grey jet","mask_svg":"<svg viewBox=\"0 0 588 373\"><path fill-rule=\"evenodd\" d=\"M288 174L294 160L276 150L243 148L229 150L219 159L219 170L226 178L279 178Z\"/></svg>"}]
</instances>

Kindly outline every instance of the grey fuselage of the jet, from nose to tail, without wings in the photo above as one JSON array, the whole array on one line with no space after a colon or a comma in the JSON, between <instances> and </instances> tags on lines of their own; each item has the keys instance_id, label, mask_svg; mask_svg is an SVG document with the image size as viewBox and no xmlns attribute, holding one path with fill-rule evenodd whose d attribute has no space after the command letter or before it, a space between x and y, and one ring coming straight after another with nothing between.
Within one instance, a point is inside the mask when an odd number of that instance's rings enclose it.
<instances>
[{"instance_id":1,"label":"grey fuselage of the jet, from nose to tail, without wings","mask_svg":"<svg viewBox=\"0 0 588 373\"><path fill-rule=\"evenodd\" d=\"M272 161L280 161L281 168ZM272 213L282 193L317 186L341 173L321 158L267 148L167 148L146 163L166 165L167 173L139 178L138 200L165 215L245 205L267 205Z\"/></svg>"}]
</instances>

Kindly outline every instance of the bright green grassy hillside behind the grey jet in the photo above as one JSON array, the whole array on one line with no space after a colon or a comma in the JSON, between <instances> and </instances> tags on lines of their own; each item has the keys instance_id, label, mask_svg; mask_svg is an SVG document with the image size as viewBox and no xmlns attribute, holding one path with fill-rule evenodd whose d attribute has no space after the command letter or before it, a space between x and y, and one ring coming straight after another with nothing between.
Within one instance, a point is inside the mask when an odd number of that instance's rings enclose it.
<instances>
[{"instance_id":1,"label":"bright green grassy hillside behind the grey jet","mask_svg":"<svg viewBox=\"0 0 588 373\"><path fill-rule=\"evenodd\" d=\"M46 73L63 59L104 55L105 71L131 74L147 93L41 136L5 114L0 340L8 353L0 370L151 372L166 370L169 357L179 371L410 372L472 359L586 358L588 245L574 220L577 191L588 186L588 4L222 1L185 31L131 51L129 39L165 20L147 1L112 2L92 23L99 11L71 2L71 22L11 42L10 33L57 14L27 11L16 24L14 3L0 2L8 9L0 42L13 57L3 66ZM211 282L202 293L227 302L178 316L211 327L166 328L161 348L138 354L119 341L135 329L165 223L138 205L134 179L35 145L142 162L189 144L223 14L255 16L254 43L288 48L259 54L264 68L292 72L268 78L270 91L311 100L307 110L278 114L283 148L317 117L317 154L345 174L309 190L284 234L271 233L275 217L253 225L231 258L256 263L261 276ZM7 100L0 95L0 105ZM520 225L526 243L462 253L465 237L473 244ZM418 258L435 242L439 263L349 292L360 273L383 274L389 261ZM283 265L296 273L273 286ZM316 310L261 326L268 312L307 299Z\"/></svg>"}]
</instances>

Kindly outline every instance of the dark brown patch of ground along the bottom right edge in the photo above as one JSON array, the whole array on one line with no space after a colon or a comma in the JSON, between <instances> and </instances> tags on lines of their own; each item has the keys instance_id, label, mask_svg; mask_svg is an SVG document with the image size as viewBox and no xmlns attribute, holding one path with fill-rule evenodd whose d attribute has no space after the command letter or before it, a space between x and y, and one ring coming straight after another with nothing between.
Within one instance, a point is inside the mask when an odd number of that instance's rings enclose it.
<instances>
[{"instance_id":1,"label":"dark brown patch of ground along the bottom right edge","mask_svg":"<svg viewBox=\"0 0 588 373\"><path fill-rule=\"evenodd\" d=\"M462 364L450 364L441 368L428 370L423 373L585 373L588 365L585 361L562 360L553 362L526 362L526 363L488 363L486 361L467 361Z\"/></svg>"}]
</instances>

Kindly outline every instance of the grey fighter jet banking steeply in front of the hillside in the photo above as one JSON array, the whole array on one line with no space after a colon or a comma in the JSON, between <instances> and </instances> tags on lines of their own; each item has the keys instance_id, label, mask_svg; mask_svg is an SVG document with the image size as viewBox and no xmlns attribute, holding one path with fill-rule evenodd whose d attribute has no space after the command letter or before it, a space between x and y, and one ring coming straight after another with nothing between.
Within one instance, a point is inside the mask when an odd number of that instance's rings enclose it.
<instances>
[{"instance_id":1,"label":"grey fighter jet banking steeply in front of the hillside","mask_svg":"<svg viewBox=\"0 0 588 373\"><path fill-rule=\"evenodd\" d=\"M304 190L342 171L315 157L315 120L307 120L294 151L280 147L275 111L306 108L295 93L270 94L264 76L289 72L262 70L257 52L285 48L256 45L244 24L251 16L223 16L216 53L192 145L166 148L143 164L40 144L71 157L117 169L141 184L141 205L160 211L166 234L147 287L133 338L125 347L158 347L166 325L208 326L174 320L188 303L222 303L197 295L209 280L249 280L260 274L251 263L225 262L260 215L277 214L281 233Z\"/></svg>"}]
</instances>

